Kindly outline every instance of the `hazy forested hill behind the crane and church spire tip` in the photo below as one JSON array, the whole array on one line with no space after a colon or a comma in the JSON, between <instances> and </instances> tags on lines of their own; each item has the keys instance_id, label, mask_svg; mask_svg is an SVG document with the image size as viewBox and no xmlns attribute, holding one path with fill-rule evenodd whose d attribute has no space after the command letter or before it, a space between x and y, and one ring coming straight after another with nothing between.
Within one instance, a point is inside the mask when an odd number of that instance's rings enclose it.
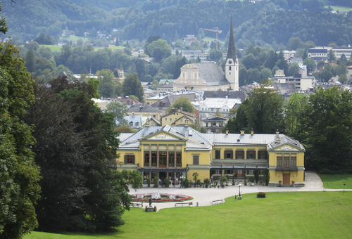
<instances>
[{"instance_id":1,"label":"hazy forested hill behind the crane and church spire tip","mask_svg":"<svg viewBox=\"0 0 352 239\"><path fill-rule=\"evenodd\" d=\"M256 15L275 11L275 4L260 1L253 4L249 1L209 1L183 4L172 8L163 8L161 11L149 13L143 18L135 20L125 27L125 37L132 39L146 39L150 35L165 34L163 38L175 40L186 34L196 34L199 28L212 29L219 27L224 39L230 30L230 15L233 14L234 27L252 19ZM207 33L206 33L207 34ZM213 32L208 35L214 37Z\"/></svg>"}]
</instances>

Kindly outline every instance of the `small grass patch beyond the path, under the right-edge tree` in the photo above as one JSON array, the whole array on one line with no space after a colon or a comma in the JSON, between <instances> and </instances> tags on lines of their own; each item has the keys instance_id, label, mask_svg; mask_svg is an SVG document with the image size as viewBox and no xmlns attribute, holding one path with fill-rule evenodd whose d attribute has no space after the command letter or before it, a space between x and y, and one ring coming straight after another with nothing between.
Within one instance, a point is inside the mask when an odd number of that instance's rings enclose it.
<instances>
[{"instance_id":1,"label":"small grass patch beyond the path, under the right-edge tree","mask_svg":"<svg viewBox=\"0 0 352 239\"><path fill-rule=\"evenodd\" d=\"M346 184L346 189L352 189L352 174L319 174L325 188L341 189Z\"/></svg>"}]
</instances>

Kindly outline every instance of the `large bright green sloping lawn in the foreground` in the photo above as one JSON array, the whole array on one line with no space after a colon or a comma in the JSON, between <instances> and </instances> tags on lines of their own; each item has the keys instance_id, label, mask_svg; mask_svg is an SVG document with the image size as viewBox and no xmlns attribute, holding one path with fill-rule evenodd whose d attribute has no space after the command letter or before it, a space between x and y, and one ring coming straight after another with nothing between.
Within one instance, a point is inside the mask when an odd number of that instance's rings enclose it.
<instances>
[{"instance_id":1,"label":"large bright green sloping lawn in the foreground","mask_svg":"<svg viewBox=\"0 0 352 239\"><path fill-rule=\"evenodd\" d=\"M34 238L352 238L352 192L256 193L222 205L160 212L132 208L125 225L103 234L37 233ZM156 205L158 207L158 205Z\"/></svg>"}]
</instances>

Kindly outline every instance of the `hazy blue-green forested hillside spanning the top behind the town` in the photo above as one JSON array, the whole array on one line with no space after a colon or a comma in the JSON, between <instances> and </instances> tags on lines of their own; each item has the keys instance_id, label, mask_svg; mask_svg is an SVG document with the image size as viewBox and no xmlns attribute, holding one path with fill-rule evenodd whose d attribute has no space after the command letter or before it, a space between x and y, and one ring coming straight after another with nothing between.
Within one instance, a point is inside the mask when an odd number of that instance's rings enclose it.
<instances>
[{"instance_id":1,"label":"hazy blue-green forested hillside spanning the top behind the town","mask_svg":"<svg viewBox=\"0 0 352 239\"><path fill-rule=\"evenodd\" d=\"M327 4L337 1L18 0L6 1L3 15L8 34L17 43L30 41L41 32L57 38L63 30L70 30L80 37L86 32L87 37L96 38L100 31L139 41L160 35L171 44L187 34L198 34L201 28L213 27L222 30L220 39L228 39L233 14L236 41L286 46L291 37L299 36L317 46L331 42L338 46L351 44L352 13L328 13L324 8ZM349 6L348 1L339 1L341 4ZM215 37L213 32L204 34Z\"/></svg>"}]
</instances>

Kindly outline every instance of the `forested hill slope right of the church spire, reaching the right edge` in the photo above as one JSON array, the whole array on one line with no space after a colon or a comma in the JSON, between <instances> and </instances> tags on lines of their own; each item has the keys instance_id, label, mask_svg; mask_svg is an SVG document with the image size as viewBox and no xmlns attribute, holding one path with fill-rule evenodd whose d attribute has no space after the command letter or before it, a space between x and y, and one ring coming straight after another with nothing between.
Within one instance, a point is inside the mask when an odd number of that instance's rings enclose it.
<instances>
[{"instance_id":1,"label":"forested hill slope right of the church spire, reaching the right edge","mask_svg":"<svg viewBox=\"0 0 352 239\"><path fill-rule=\"evenodd\" d=\"M238 39L260 39L268 44L287 45L291 37L313 41L316 46L352 44L352 12L339 15L327 12L275 11L266 18L258 15L234 30Z\"/></svg>"}]
</instances>

